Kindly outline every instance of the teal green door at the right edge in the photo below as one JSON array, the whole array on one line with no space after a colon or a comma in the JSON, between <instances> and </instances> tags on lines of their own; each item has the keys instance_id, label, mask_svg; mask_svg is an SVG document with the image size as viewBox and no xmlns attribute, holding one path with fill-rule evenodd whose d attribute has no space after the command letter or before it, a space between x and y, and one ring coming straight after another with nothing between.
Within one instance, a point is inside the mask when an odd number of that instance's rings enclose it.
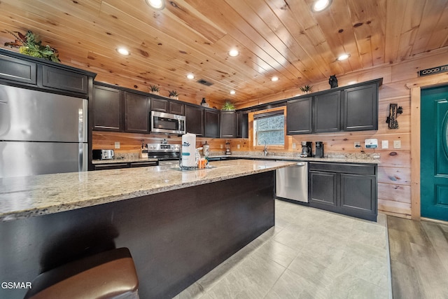
<instances>
[{"instance_id":1,"label":"teal green door at the right edge","mask_svg":"<svg viewBox=\"0 0 448 299\"><path fill-rule=\"evenodd\" d=\"M448 221L448 86L421 90L421 216Z\"/></svg>"}]
</instances>

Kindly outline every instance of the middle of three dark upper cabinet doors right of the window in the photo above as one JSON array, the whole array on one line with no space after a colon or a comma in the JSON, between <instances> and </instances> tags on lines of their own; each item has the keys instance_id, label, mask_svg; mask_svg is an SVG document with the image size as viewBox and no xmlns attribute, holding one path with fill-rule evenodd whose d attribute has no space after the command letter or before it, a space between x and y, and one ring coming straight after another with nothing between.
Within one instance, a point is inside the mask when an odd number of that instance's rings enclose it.
<instances>
[{"instance_id":1,"label":"middle of three dark upper cabinet doors right of the window","mask_svg":"<svg viewBox=\"0 0 448 299\"><path fill-rule=\"evenodd\" d=\"M337 132L341 128L341 92L314 97L314 132ZM288 113L289 115L289 113Z\"/></svg>"}]
</instances>

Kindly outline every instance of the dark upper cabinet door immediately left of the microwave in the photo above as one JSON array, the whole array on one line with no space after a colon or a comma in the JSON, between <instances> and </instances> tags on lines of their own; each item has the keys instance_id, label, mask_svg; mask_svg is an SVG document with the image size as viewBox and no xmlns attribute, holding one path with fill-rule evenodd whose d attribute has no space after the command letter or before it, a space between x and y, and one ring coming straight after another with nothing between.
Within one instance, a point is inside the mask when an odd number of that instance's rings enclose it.
<instances>
[{"instance_id":1,"label":"dark upper cabinet door immediately left of the microwave","mask_svg":"<svg viewBox=\"0 0 448 299\"><path fill-rule=\"evenodd\" d=\"M125 92L125 131L149 133L149 99Z\"/></svg>"}]
</instances>

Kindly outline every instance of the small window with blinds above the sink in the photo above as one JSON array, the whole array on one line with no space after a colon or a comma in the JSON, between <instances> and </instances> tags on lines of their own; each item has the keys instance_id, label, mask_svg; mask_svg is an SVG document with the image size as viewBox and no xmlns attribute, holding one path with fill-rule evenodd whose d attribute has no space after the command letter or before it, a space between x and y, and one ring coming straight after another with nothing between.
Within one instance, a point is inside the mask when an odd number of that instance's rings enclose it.
<instances>
[{"instance_id":1,"label":"small window with blinds above the sink","mask_svg":"<svg viewBox=\"0 0 448 299\"><path fill-rule=\"evenodd\" d=\"M285 117L283 111L271 113L260 113L253 116L253 132L256 145L278 145L285 144Z\"/></svg>"}]
</instances>

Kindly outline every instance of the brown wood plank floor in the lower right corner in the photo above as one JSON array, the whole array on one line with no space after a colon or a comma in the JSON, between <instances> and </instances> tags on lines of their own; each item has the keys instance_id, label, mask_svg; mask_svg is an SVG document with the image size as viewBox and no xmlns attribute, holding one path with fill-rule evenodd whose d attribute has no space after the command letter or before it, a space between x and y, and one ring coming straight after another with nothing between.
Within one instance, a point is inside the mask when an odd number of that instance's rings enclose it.
<instances>
[{"instance_id":1,"label":"brown wood plank floor in the lower right corner","mask_svg":"<svg viewBox=\"0 0 448 299\"><path fill-rule=\"evenodd\" d=\"M393 298L448 298L448 225L387 216Z\"/></svg>"}]
</instances>

